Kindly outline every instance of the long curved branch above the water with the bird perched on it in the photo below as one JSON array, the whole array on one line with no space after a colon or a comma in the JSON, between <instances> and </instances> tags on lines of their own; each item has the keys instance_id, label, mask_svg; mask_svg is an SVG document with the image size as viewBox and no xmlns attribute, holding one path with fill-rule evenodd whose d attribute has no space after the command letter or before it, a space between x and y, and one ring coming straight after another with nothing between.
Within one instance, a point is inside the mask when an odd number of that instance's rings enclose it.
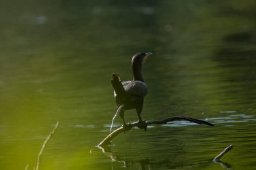
<instances>
[{"instance_id":1,"label":"long curved branch above the water with the bird perched on it","mask_svg":"<svg viewBox=\"0 0 256 170\"><path fill-rule=\"evenodd\" d=\"M163 119L160 119L160 120L148 120L146 122L143 122L142 124L139 124L138 122L132 122L132 123L127 124L125 127L121 126L117 130L108 134L108 136L106 136L106 138L104 138L104 140L102 140L102 142L100 142L100 144L98 144L98 146L106 146L108 144L111 144L111 140L113 138L115 138L115 136L117 136L121 132L126 132L128 130L131 130L131 128L133 128L133 127L141 128L141 127L144 127L144 126L148 126L150 124L166 124L168 122L174 122L174 121L177 121L177 120L187 120L189 122L194 122L196 124L206 124L208 126L214 126L214 124L211 124L210 122L207 122L207 121L204 121L204 120L198 120L198 119L183 117L183 116L174 116L174 117L170 117L170 118L163 118Z\"/></svg>"}]
</instances>

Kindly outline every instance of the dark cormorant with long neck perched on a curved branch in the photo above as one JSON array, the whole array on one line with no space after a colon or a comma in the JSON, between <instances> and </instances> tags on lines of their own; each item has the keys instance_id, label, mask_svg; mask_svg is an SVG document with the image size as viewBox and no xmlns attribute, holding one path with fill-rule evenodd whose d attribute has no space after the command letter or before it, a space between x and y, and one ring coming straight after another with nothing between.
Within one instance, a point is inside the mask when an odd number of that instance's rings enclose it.
<instances>
[{"instance_id":1,"label":"dark cormorant with long neck perched on a curved branch","mask_svg":"<svg viewBox=\"0 0 256 170\"><path fill-rule=\"evenodd\" d=\"M132 81L121 82L118 74L113 74L113 79L111 79L114 96L119 107L117 114L123 119L123 126L126 126L124 119L125 110L135 109L139 118L139 128L144 128L145 132L147 127L143 126L143 120L141 120L140 115L143 108L143 99L148 93L148 87L143 81L141 68L148 56L151 55L152 52L139 52L133 55L131 59L131 68L133 71Z\"/></svg>"}]
</instances>

